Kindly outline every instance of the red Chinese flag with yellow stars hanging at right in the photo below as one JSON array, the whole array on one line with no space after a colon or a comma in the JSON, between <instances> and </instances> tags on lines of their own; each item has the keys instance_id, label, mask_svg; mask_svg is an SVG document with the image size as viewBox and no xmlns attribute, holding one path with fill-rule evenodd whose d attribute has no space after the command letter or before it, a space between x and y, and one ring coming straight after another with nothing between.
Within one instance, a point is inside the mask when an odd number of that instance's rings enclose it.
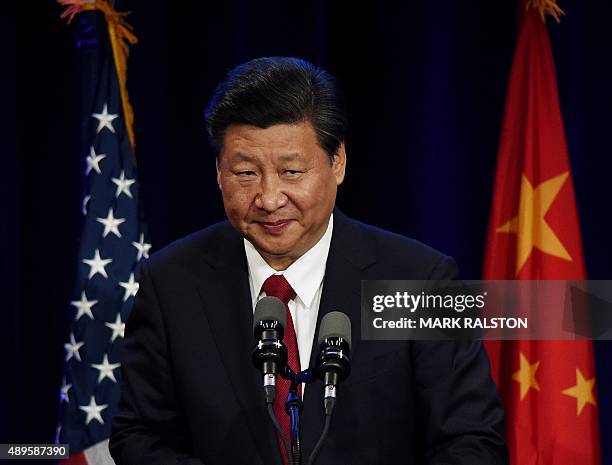
<instances>
[{"instance_id":1,"label":"red Chinese flag with yellow stars hanging at right","mask_svg":"<svg viewBox=\"0 0 612 465\"><path fill-rule=\"evenodd\" d=\"M484 279L585 279L552 49L534 3L523 9L510 74ZM599 464L591 342L487 341L487 349L512 464Z\"/></svg>"}]
</instances>

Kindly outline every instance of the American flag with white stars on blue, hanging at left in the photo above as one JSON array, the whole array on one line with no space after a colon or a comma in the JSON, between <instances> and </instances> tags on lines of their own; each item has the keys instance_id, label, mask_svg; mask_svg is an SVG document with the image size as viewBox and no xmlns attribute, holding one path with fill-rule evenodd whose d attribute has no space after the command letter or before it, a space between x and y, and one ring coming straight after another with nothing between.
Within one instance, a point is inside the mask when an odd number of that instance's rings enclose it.
<instances>
[{"instance_id":1,"label":"American flag with white stars on blue, hanging at left","mask_svg":"<svg viewBox=\"0 0 612 465\"><path fill-rule=\"evenodd\" d=\"M95 28L102 16L87 12L79 27ZM120 84L106 28L79 42L92 108L84 115L84 225L65 347L58 441L70 445L68 464L112 464L111 418L117 412L125 321L138 291L137 268L147 243L140 218L138 182ZM86 95L87 91L83 92Z\"/></svg>"}]
</instances>

